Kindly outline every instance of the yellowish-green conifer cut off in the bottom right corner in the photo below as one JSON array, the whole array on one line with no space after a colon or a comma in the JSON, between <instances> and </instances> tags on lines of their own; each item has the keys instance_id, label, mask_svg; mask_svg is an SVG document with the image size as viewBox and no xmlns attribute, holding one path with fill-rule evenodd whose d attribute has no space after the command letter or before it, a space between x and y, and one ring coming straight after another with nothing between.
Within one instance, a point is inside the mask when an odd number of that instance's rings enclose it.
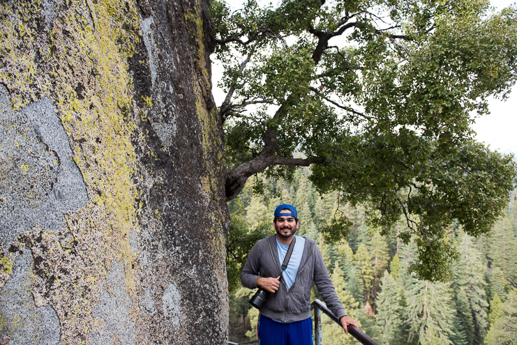
<instances>
[{"instance_id":1,"label":"yellowish-green conifer cut off in the bottom right corner","mask_svg":"<svg viewBox=\"0 0 517 345\"><path fill-rule=\"evenodd\" d=\"M486 335L486 345L517 344L517 292L511 291Z\"/></svg>"}]
</instances>

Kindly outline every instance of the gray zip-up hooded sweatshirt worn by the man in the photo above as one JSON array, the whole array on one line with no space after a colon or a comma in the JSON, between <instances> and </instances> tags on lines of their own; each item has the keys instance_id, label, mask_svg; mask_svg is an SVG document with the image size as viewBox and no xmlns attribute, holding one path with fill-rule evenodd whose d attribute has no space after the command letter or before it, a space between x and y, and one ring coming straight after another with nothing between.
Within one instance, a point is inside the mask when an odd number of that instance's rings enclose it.
<instances>
[{"instance_id":1,"label":"gray zip-up hooded sweatshirt worn by the man","mask_svg":"<svg viewBox=\"0 0 517 345\"><path fill-rule=\"evenodd\" d=\"M241 282L248 289L257 289L258 277L278 277L282 270L276 248L276 235L259 240L251 249L241 273ZM306 238L304 254L294 284L287 290L280 279L280 287L269 293L260 308L260 314L283 322L305 320L310 316L310 289L316 284L327 307L338 317L345 316L345 309L339 301L336 289L323 262L320 249L314 240Z\"/></svg>"}]
</instances>

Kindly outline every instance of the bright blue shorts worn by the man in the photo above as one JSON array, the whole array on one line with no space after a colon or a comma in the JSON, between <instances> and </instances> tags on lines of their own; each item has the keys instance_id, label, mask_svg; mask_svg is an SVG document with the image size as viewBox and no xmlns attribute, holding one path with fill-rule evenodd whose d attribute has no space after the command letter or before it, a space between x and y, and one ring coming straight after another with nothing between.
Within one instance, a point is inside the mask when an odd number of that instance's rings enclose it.
<instances>
[{"instance_id":1,"label":"bright blue shorts worn by the man","mask_svg":"<svg viewBox=\"0 0 517 345\"><path fill-rule=\"evenodd\" d=\"M259 345L313 345L313 319L282 323L259 314Z\"/></svg>"}]
</instances>

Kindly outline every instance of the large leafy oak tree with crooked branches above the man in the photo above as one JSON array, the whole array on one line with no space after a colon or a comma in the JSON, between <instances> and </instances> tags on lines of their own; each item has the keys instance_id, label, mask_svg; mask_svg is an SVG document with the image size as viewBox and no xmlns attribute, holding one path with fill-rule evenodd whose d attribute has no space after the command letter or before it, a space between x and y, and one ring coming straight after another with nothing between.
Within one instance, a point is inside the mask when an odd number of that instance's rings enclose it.
<instances>
[{"instance_id":1,"label":"large leafy oak tree with crooked branches above the man","mask_svg":"<svg viewBox=\"0 0 517 345\"><path fill-rule=\"evenodd\" d=\"M517 11L486 0L212 1L226 197L246 179L309 166L318 192L364 204L387 235L414 240L421 278L450 276L444 228L487 233L509 201L516 164L474 139L487 98L517 78ZM260 188L259 188L260 189ZM346 236L336 213L324 229Z\"/></svg>"}]
</instances>

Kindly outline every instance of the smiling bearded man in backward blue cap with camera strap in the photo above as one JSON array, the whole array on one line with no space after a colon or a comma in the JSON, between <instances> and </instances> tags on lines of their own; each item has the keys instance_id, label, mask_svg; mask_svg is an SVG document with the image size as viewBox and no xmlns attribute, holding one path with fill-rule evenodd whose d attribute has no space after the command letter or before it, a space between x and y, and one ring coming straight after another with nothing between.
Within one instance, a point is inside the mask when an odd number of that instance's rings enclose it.
<instances>
[{"instance_id":1,"label":"smiling bearded man in backward blue cap with camera strap","mask_svg":"<svg viewBox=\"0 0 517 345\"><path fill-rule=\"evenodd\" d=\"M358 327L354 319L345 313L315 241L294 235L300 226L297 209L288 204L278 206L273 225L276 235L259 240L253 246L241 273L244 286L269 291L260 308L259 344L313 344L313 323L310 318L310 289L313 282L345 332L348 333L347 325ZM282 271L281 265L293 240L294 249L287 268Z\"/></svg>"}]
</instances>

